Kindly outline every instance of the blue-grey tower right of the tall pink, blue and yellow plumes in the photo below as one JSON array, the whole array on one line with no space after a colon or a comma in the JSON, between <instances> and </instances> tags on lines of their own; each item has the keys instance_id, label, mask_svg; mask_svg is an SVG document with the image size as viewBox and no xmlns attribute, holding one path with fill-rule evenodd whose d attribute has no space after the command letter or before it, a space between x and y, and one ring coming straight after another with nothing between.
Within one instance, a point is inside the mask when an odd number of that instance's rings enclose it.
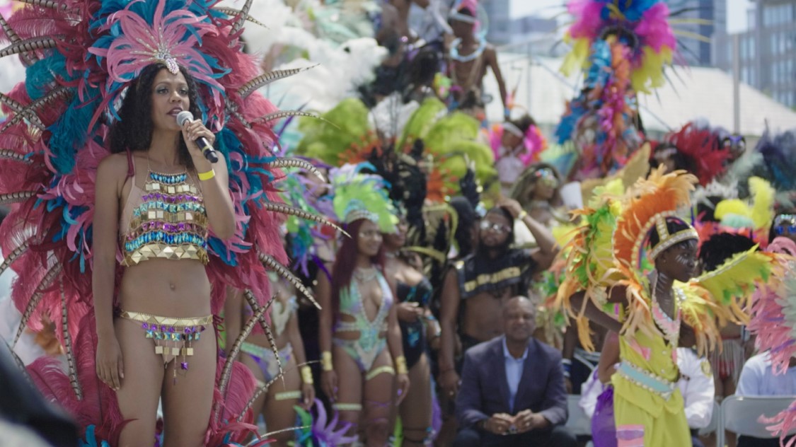
<instances>
[{"instance_id":1,"label":"blue-grey tower right of the tall pink, blue and yellow plumes","mask_svg":"<svg viewBox=\"0 0 796 447\"><path fill-rule=\"evenodd\" d=\"M711 67L712 45L701 36L713 39L726 33L727 0L665 0L673 14L672 25L679 32L678 52L689 66Z\"/></svg>"}]
</instances>

